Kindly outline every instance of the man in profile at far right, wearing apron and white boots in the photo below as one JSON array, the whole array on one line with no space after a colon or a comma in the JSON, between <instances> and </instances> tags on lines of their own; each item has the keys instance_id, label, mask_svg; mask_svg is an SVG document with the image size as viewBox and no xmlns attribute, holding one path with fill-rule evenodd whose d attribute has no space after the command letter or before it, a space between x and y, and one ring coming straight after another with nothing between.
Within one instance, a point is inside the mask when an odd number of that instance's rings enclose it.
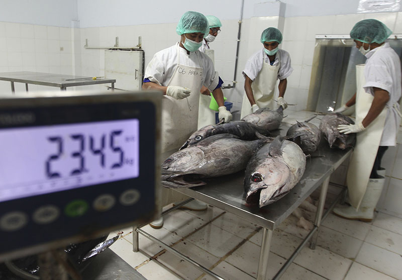
<instances>
[{"instance_id":1,"label":"man in profile at far right, wearing apron and white boots","mask_svg":"<svg viewBox=\"0 0 402 280\"><path fill-rule=\"evenodd\" d=\"M400 124L398 101L402 94L399 56L385 43L391 31L380 21L362 20L350 37L367 57L357 65L356 94L334 112L356 105L354 125L340 125L345 134L357 133L347 173L350 207L339 206L334 213L347 219L371 221L385 178L378 175L381 158L388 146L396 145Z\"/></svg>"}]
</instances>

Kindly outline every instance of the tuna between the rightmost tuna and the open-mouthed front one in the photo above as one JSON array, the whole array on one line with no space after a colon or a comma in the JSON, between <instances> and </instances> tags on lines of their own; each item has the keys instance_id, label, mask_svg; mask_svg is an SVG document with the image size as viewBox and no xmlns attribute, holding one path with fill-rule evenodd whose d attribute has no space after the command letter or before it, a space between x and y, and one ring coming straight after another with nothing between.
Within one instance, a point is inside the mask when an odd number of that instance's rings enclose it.
<instances>
[{"instance_id":1,"label":"tuna between the rightmost tuna and the open-mouthed front one","mask_svg":"<svg viewBox=\"0 0 402 280\"><path fill-rule=\"evenodd\" d=\"M320 129L316 125L309 123L315 117L317 116L314 116L303 123L296 121L297 123L292 125L286 133L286 139L299 145L305 154L312 154L317 150L317 147L320 144Z\"/></svg>"}]
</instances>

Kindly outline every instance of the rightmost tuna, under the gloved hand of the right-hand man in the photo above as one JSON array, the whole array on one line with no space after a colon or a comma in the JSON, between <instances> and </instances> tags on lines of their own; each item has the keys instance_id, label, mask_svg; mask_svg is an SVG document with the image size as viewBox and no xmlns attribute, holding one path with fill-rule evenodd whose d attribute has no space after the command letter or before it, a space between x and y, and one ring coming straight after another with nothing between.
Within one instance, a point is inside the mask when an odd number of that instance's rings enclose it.
<instances>
[{"instance_id":1,"label":"rightmost tuna, under the gloved hand of the right-hand man","mask_svg":"<svg viewBox=\"0 0 402 280\"><path fill-rule=\"evenodd\" d=\"M328 141L331 148L346 149L354 147L356 143L356 134L344 134L338 130L339 125L354 124L352 119L340 113L325 115L320 122L320 130L324 138Z\"/></svg>"}]
</instances>

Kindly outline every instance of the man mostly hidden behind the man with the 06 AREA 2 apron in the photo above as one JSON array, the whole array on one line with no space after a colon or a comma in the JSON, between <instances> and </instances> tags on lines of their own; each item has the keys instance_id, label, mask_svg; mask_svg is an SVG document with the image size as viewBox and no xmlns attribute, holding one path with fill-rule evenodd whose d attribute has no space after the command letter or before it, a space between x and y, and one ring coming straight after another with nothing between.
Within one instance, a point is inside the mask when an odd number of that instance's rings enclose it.
<instances>
[{"instance_id":1,"label":"man mostly hidden behind the man with the 06 AREA 2 apron","mask_svg":"<svg viewBox=\"0 0 402 280\"><path fill-rule=\"evenodd\" d=\"M199 47L199 51L204 52L211 58L215 66L215 52L210 48L210 43L214 42L218 33L221 32L222 23L215 16L206 16L210 31L207 37L204 38L203 44ZM198 129L215 124L215 111L210 109L211 92L203 85L201 87L201 95L199 96L199 109L198 109Z\"/></svg>"}]
</instances>

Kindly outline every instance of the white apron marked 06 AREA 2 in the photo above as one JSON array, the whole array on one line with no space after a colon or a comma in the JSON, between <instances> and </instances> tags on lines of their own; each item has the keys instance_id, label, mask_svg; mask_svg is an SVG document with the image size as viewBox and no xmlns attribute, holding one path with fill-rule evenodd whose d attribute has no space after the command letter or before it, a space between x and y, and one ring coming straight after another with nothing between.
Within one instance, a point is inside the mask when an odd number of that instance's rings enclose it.
<instances>
[{"instance_id":1,"label":"white apron marked 06 AREA 2","mask_svg":"<svg viewBox=\"0 0 402 280\"><path fill-rule=\"evenodd\" d=\"M168 85L191 89L188 98L176 100L169 96L162 99L162 152L178 149L197 130L199 90L203 84L203 68L180 64L180 46L177 46L177 66ZM199 62L199 58L198 58ZM199 63L201 65L201 63ZM193 72L190 72L193 71ZM198 74L196 74L198 73ZM172 189L162 188L161 205L188 199Z\"/></svg>"}]
</instances>

